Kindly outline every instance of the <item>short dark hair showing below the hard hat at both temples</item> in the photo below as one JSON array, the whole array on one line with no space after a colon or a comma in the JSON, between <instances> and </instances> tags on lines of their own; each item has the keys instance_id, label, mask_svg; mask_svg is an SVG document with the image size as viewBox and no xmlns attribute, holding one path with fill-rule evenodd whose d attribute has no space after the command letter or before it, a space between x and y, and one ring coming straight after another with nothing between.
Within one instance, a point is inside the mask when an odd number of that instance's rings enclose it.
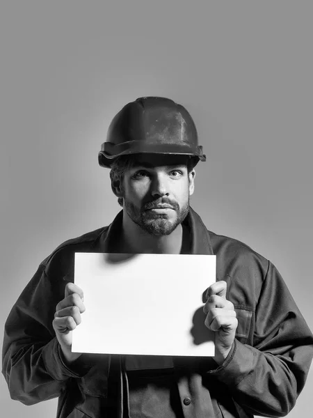
<instances>
[{"instance_id":1,"label":"short dark hair showing below the hard hat at both temples","mask_svg":"<svg viewBox=\"0 0 313 418\"><path fill-rule=\"evenodd\" d=\"M195 168L196 164L199 161L198 157L193 157L192 155L186 155L187 157L187 169L188 173L191 173ZM111 183L114 181L118 181L122 183L122 180L125 176L127 170L131 169L136 162L136 154L129 154L129 155L120 155L119 157L114 158L113 162L111 163L111 171L110 171L110 178ZM123 199L122 197L118 198L118 204L123 206Z\"/></svg>"}]
</instances>

